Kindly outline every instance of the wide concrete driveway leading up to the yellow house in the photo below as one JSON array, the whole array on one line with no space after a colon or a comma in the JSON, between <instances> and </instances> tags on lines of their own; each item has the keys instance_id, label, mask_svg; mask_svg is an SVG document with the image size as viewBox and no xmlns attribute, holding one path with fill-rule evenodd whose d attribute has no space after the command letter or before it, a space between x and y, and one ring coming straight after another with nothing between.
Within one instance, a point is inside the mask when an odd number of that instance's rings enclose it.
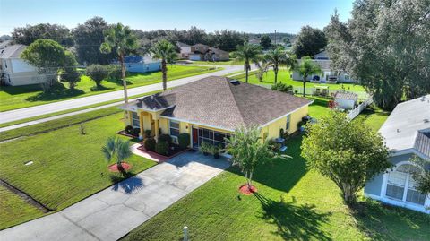
<instances>
[{"instance_id":1,"label":"wide concrete driveway leading up to the yellow house","mask_svg":"<svg viewBox=\"0 0 430 241\"><path fill-rule=\"evenodd\" d=\"M188 151L63 211L4 229L0 240L117 240L229 165Z\"/></svg>"}]
</instances>

